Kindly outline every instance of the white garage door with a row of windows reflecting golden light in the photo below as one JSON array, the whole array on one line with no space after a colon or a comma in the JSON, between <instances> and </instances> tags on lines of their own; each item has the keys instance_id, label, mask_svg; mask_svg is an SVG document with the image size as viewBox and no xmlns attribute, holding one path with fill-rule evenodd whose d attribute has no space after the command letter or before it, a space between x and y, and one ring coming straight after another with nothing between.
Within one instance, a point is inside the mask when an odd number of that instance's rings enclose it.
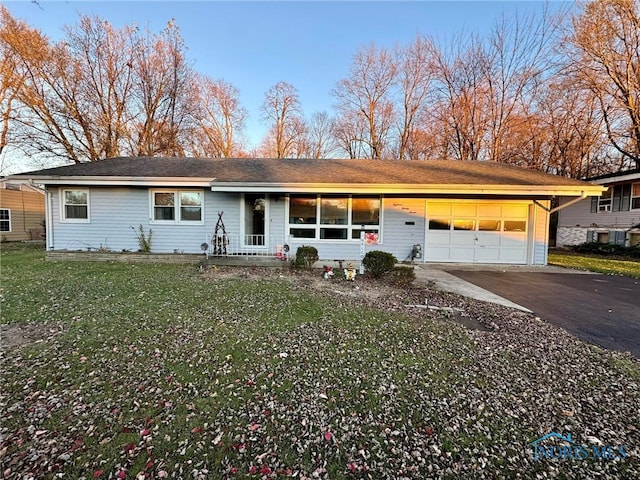
<instances>
[{"instance_id":1,"label":"white garage door with a row of windows reflecting golden light","mask_svg":"<svg viewBox=\"0 0 640 480\"><path fill-rule=\"evenodd\" d=\"M428 262L527 263L526 203L428 202Z\"/></svg>"}]
</instances>

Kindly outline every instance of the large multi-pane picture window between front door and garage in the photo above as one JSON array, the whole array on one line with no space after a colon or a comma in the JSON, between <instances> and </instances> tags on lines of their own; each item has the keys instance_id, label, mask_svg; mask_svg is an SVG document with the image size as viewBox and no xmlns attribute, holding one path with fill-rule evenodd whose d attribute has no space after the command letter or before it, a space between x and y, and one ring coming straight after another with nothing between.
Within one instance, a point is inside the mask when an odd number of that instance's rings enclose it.
<instances>
[{"instance_id":1,"label":"large multi-pane picture window between front door and garage","mask_svg":"<svg viewBox=\"0 0 640 480\"><path fill-rule=\"evenodd\" d=\"M316 240L359 240L362 226L371 238L380 230L380 197L292 195L289 233Z\"/></svg>"}]
</instances>

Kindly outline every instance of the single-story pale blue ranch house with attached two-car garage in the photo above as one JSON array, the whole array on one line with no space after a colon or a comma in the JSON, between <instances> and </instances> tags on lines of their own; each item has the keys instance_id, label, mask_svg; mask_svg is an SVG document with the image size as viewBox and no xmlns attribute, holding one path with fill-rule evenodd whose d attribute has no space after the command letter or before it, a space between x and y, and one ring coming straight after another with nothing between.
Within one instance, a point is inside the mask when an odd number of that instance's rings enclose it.
<instances>
[{"instance_id":1,"label":"single-story pale blue ranch house with attached two-car garage","mask_svg":"<svg viewBox=\"0 0 640 480\"><path fill-rule=\"evenodd\" d=\"M551 198L603 190L460 161L115 158L17 178L46 188L49 251L136 251L142 226L157 253L312 245L325 261L376 249L400 261L544 265Z\"/></svg>"}]
</instances>

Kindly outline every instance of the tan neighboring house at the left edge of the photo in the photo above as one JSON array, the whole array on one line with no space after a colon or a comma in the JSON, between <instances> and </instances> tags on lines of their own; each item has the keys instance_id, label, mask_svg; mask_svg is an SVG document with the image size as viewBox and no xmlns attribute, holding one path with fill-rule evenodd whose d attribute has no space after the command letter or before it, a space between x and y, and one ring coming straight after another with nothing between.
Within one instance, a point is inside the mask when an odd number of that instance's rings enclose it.
<instances>
[{"instance_id":1,"label":"tan neighboring house at the left edge of the photo","mask_svg":"<svg viewBox=\"0 0 640 480\"><path fill-rule=\"evenodd\" d=\"M44 190L25 181L0 180L0 240L44 238Z\"/></svg>"}]
</instances>

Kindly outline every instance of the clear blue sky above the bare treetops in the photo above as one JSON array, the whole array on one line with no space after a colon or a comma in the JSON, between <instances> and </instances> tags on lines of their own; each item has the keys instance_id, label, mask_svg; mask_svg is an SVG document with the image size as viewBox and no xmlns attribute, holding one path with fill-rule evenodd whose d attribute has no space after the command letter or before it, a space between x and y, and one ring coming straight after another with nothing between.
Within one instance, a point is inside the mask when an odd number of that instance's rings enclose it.
<instances>
[{"instance_id":1,"label":"clear blue sky above the bare treetops","mask_svg":"<svg viewBox=\"0 0 640 480\"><path fill-rule=\"evenodd\" d=\"M353 55L370 44L392 48L416 35L444 41L488 33L502 14L541 11L542 1L48 1L4 0L11 14L53 40L80 14L115 26L160 31L175 19L194 68L224 79L249 112L246 136L255 147L267 127L265 92L279 81L297 88L306 116L331 112L331 90L347 77ZM550 6L562 2L551 1Z\"/></svg>"}]
</instances>

